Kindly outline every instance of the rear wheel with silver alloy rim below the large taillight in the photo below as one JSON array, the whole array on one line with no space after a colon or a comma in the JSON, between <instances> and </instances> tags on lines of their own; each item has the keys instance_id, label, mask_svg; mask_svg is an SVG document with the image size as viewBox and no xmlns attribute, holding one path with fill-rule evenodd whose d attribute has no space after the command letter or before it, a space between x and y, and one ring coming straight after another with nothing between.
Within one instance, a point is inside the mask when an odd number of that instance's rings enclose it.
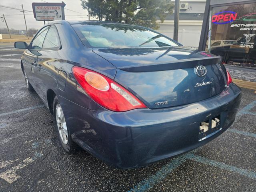
<instances>
[{"instance_id":1,"label":"rear wheel with silver alloy rim below the large taillight","mask_svg":"<svg viewBox=\"0 0 256 192\"><path fill-rule=\"evenodd\" d=\"M64 112L62 111L57 96L55 96L53 101L53 116L55 130L62 148L68 153L76 152L78 150L78 146L71 139L69 129L66 126Z\"/></svg>"}]
</instances>

